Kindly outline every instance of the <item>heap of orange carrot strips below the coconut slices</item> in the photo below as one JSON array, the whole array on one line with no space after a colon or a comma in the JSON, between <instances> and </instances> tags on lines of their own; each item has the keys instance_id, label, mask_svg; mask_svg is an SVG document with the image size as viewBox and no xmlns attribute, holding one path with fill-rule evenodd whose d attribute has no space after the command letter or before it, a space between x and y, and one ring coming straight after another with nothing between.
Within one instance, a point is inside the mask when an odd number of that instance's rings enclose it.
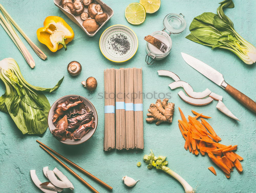
<instances>
[{"instance_id":1,"label":"heap of orange carrot strips below the coconut slices","mask_svg":"<svg viewBox=\"0 0 256 193\"><path fill-rule=\"evenodd\" d=\"M188 116L186 120L184 114L179 108L182 116L182 120L179 121L179 129L185 138L184 148L189 149L195 155L198 155L198 150L202 155L205 152L208 154L209 158L225 173L226 177L230 177L230 171L233 171L233 167L236 167L237 171L241 173L243 171L242 165L240 163L243 158L233 152L237 149L237 145L223 145L218 143L220 137L215 133L210 124L201 118L199 122L196 118L202 117L201 113L193 112L198 115L196 117ZM187 131L186 131L187 130ZM208 132L208 131L209 132ZM213 141L215 140L215 141ZM239 161L240 160L240 161Z\"/></svg>"}]
</instances>

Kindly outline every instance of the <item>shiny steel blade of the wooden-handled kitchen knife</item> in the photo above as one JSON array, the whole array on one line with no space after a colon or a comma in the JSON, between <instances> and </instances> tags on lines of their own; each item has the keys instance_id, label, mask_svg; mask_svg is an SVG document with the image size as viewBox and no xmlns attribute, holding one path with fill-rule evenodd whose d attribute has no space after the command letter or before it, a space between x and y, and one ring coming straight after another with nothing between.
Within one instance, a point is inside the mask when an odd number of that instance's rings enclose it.
<instances>
[{"instance_id":1,"label":"shiny steel blade of the wooden-handled kitchen knife","mask_svg":"<svg viewBox=\"0 0 256 193\"><path fill-rule=\"evenodd\" d=\"M195 70L200 72L202 75L209 78L215 84L221 86L224 89L226 88L226 86L228 84L225 82L223 75L221 73L219 73L217 70L215 70L211 66L207 65L206 63L194 58L193 56L190 56L183 52L181 53L181 55L188 65L193 67Z\"/></svg>"}]
</instances>

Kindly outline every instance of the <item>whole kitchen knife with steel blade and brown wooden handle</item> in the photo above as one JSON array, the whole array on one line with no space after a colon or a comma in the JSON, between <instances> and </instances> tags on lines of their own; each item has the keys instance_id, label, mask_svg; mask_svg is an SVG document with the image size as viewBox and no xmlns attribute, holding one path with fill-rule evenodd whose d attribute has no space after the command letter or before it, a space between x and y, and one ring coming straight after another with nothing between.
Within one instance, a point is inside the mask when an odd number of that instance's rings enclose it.
<instances>
[{"instance_id":1,"label":"whole kitchen knife with steel blade and brown wooden handle","mask_svg":"<svg viewBox=\"0 0 256 193\"><path fill-rule=\"evenodd\" d=\"M204 62L194 58L185 53L181 53L185 62L193 67L195 70L200 72L202 75L209 78L212 82L221 86L226 90L231 96L237 99L241 104L250 109L252 112L256 113L256 103L252 99L250 99L245 94L241 93L236 88L227 84L223 78L223 75L219 73L217 70L213 69L211 66L205 64Z\"/></svg>"}]
</instances>

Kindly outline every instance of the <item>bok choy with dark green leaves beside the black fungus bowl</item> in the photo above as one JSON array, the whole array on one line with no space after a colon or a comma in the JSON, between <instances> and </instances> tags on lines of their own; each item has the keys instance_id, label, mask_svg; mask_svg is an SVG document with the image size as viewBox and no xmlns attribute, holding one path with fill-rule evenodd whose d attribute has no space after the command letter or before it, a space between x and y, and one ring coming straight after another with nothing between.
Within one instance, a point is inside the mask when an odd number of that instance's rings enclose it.
<instances>
[{"instance_id":1,"label":"bok choy with dark green leaves beside the black fungus bowl","mask_svg":"<svg viewBox=\"0 0 256 193\"><path fill-rule=\"evenodd\" d=\"M50 104L42 91L56 91L63 78L53 88L33 86L24 79L14 59L3 59L0 61L0 79L4 82L6 90L0 97L0 110L9 113L23 134L44 133L48 127Z\"/></svg>"}]
</instances>

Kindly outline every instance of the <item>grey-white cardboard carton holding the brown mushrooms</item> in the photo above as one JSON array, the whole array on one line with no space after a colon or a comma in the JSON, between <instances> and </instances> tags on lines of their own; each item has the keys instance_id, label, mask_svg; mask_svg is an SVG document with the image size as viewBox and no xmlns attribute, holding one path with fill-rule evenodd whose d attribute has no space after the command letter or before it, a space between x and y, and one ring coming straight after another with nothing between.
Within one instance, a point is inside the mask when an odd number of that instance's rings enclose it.
<instances>
[{"instance_id":1,"label":"grey-white cardboard carton holding the brown mushrooms","mask_svg":"<svg viewBox=\"0 0 256 193\"><path fill-rule=\"evenodd\" d=\"M108 6L106 5L104 2L102 2L101 0L96 0L94 1L95 4L99 4L103 10L103 13L107 14L108 18L103 22L103 23L100 23L100 26L99 28L95 31L95 32L88 32L84 27L83 27L83 21L81 19L81 16L80 15L73 15L71 13L69 13L67 10L65 10L62 5L61 5L61 1L62 0L54 0L54 4L64 13L66 14L69 19L71 19L74 23L76 23L84 32L86 32L86 34L90 37L94 36L104 25L106 22L108 22L108 20L110 20L110 18L113 16L114 12L113 10ZM87 12L88 13L88 7L84 6L84 12Z\"/></svg>"}]
</instances>

